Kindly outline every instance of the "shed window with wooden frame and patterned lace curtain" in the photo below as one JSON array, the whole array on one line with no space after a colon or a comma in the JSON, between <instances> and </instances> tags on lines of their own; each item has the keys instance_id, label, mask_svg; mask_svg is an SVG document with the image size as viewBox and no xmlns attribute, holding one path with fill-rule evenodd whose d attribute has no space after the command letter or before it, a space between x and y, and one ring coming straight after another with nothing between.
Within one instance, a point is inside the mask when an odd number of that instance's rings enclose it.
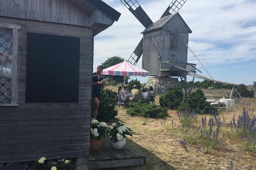
<instances>
[{"instance_id":1,"label":"shed window with wooden frame and patterned lace curtain","mask_svg":"<svg viewBox=\"0 0 256 170\"><path fill-rule=\"evenodd\" d=\"M0 106L17 106L18 29L18 24L0 23Z\"/></svg>"}]
</instances>

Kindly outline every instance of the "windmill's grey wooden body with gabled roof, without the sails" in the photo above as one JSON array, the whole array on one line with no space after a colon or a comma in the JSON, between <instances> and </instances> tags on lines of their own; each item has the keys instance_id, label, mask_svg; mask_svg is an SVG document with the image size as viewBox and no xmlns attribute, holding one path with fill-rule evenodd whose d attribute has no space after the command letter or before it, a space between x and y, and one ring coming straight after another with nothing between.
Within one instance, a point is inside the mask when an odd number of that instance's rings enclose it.
<instances>
[{"instance_id":1,"label":"windmill's grey wooden body with gabled roof, without the sails","mask_svg":"<svg viewBox=\"0 0 256 170\"><path fill-rule=\"evenodd\" d=\"M195 71L195 65L187 63L188 47L191 29L179 13L171 14L157 20L143 32L143 64L151 76L181 76L184 74L173 65L162 61L170 61L178 67ZM186 43L185 43L186 42ZM191 65L194 66L191 67Z\"/></svg>"}]
</instances>

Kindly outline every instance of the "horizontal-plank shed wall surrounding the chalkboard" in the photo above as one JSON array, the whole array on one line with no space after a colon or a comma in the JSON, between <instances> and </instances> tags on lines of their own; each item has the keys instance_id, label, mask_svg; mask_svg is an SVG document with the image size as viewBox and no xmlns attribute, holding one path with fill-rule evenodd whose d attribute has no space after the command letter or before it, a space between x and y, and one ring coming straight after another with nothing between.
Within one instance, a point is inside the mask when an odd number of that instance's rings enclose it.
<instances>
[{"instance_id":1,"label":"horizontal-plank shed wall surrounding the chalkboard","mask_svg":"<svg viewBox=\"0 0 256 170\"><path fill-rule=\"evenodd\" d=\"M42 156L89 156L93 30L4 17L0 17L0 23L21 25L17 61L19 106L0 107L0 163L32 161ZM78 103L25 102L28 32L80 38Z\"/></svg>"}]
</instances>

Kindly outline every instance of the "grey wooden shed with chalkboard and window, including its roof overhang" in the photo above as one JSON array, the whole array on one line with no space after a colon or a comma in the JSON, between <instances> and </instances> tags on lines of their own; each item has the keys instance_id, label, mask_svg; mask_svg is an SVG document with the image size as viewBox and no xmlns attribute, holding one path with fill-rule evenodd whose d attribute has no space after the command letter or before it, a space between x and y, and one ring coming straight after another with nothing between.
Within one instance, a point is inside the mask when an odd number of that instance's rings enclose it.
<instances>
[{"instance_id":1,"label":"grey wooden shed with chalkboard and window, including its roof overhang","mask_svg":"<svg viewBox=\"0 0 256 170\"><path fill-rule=\"evenodd\" d=\"M101 0L0 0L0 163L89 156Z\"/></svg>"}]
</instances>

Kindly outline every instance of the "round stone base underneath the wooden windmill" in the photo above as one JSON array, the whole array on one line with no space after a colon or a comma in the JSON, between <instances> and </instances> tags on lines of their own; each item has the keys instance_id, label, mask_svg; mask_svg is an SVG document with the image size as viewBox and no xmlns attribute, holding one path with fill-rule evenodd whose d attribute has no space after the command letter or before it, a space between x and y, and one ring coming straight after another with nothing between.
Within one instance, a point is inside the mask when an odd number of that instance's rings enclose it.
<instances>
[{"instance_id":1,"label":"round stone base underneath the wooden windmill","mask_svg":"<svg viewBox=\"0 0 256 170\"><path fill-rule=\"evenodd\" d=\"M173 77L149 77L145 88L152 86L155 89L166 91L177 86L178 82L178 79Z\"/></svg>"}]
</instances>

